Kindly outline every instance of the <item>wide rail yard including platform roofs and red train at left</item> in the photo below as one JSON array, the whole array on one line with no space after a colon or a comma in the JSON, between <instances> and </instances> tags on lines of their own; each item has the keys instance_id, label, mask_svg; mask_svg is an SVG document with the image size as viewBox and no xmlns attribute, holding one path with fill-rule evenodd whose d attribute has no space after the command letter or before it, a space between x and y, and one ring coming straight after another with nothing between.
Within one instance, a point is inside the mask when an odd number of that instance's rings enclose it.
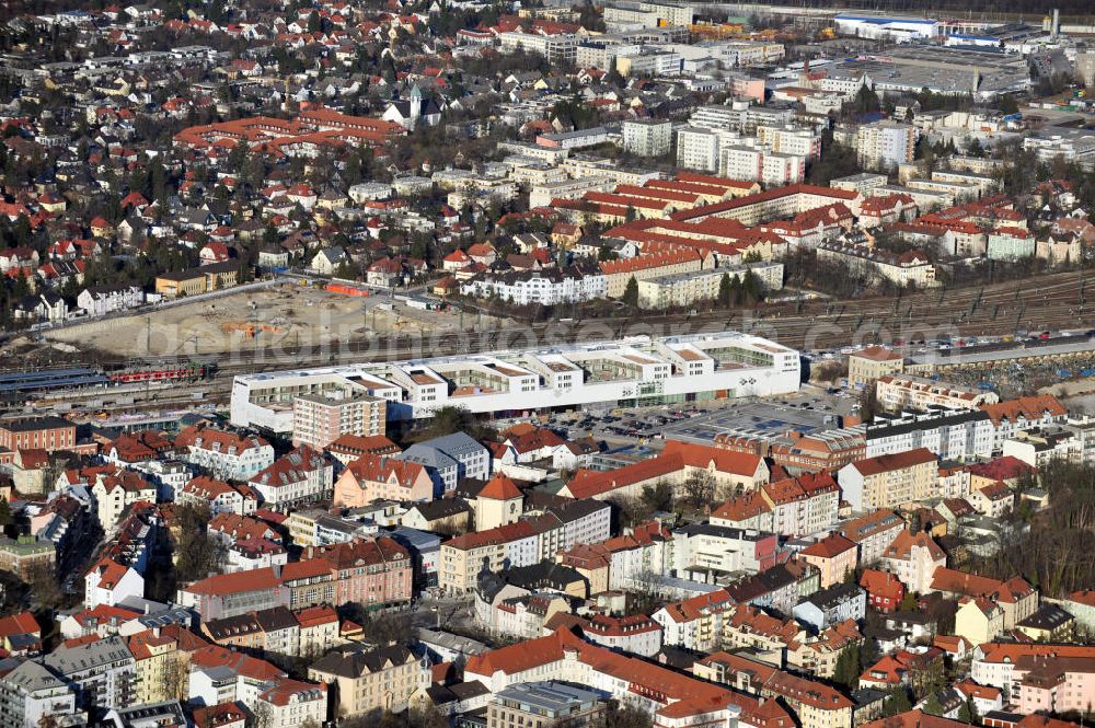
<instances>
[{"instance_id":1,"label":"wide rail yard including platform roofs and red train at left","mask_svg":"<svg viewBox=\"0 0 1095 728\"><path fill-rule=\"evenodd\" d=\"M914 350L920 342L960 336L1006 336L1019 331L1087 330L1095 316L1085 300L1083 271L1059 273L1030 281L983 287L938 289L894 298L855 301L812 300L770 304L756 310L729 310L690 316L650 314L642 317L587 319L531 324L494 322L493 328L465 327L433 334L401 332L330 340L316 346L245 344L193 357L94 357L93 381L71 383L64 378L38 384L36 407L87 414L125 409L165 409L195 402L227 402L232 378L260 371L367 359L393 361L426 356L452 356L518 346L543 346L620 338L629 335L670 335L736 328L770 337L804 351L885 343ZM468 323L475 322L466 316ZM79 360L82 355L73 355ZM215 367L206 367L216 361ZM157 374L141 372L173 372ZM182 374L180 372L183 372ZM18 372L9 372L13 375ZM184 375L185 374L185 375ZM41 377L35 381L41 382Z\"/></svg>"}]
</instances>

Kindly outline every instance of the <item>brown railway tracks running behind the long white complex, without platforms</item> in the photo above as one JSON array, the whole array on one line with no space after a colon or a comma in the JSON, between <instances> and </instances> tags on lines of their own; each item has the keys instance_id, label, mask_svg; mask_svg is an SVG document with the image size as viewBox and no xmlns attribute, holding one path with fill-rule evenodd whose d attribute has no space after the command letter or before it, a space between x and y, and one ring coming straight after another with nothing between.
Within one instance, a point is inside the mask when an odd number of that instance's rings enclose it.
<instances>
[{"instance_id":1,"label":"brown railway tracks running behind the long white complex, without platforms","mask_svg":"<svg viewBox=\"0 0 1095 728\"><path fill-rule=\"evenodd\" d=\"M621 338L631 335L670 336L724 330L756 333L800 350L825 349L861 343L897 343L941 336L1013 334L1017 330L1095 327L1095 310L1085 308L1084 271L1040 276L982 287L940 289L898 297L764 305L695 315L645 314L551 321L487 331L443 332L434 335L400 334L319 346L249 347L206 353L197 358L216 361L208 380L181 385L176 396L149 402L104 406L103 411L146 409L193 404L186 393L203 392L201 402L228 401L232 378L279 369L403 359L459 356L495 349L551 346L575 342ZM143 360L150 366L171 365L177 357ZM101 359L102 361L102 359ZM107 358L105 366L120 367ZM71 398L71 394L68 395ZM89 392L87 397L102 398ZM76 404L76 402L73 402Z\"/></svg>"}]
</instances>

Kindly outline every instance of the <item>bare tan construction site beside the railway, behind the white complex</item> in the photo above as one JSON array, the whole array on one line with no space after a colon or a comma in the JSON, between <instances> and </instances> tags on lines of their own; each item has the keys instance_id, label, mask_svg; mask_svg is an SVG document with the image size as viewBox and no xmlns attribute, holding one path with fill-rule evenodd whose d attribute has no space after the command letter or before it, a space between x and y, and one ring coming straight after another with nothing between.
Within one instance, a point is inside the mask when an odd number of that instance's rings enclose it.
<instances>
[{"instance_id":1,"label":"bare tan construction site beside the railway, behind the white complex","mask_svg":"<svg viewBox=\"0 0 1095 728\"><path fill-rule=\"evenodd\" d=\"M349 296L284 282L216 299L152 308L127 316L49 331L45 338L84 351L123 357L174 357L326 346L391 334L456 333L496 324L487 316L424 310L387 296Z\"/></svg>"}]
</instances>

